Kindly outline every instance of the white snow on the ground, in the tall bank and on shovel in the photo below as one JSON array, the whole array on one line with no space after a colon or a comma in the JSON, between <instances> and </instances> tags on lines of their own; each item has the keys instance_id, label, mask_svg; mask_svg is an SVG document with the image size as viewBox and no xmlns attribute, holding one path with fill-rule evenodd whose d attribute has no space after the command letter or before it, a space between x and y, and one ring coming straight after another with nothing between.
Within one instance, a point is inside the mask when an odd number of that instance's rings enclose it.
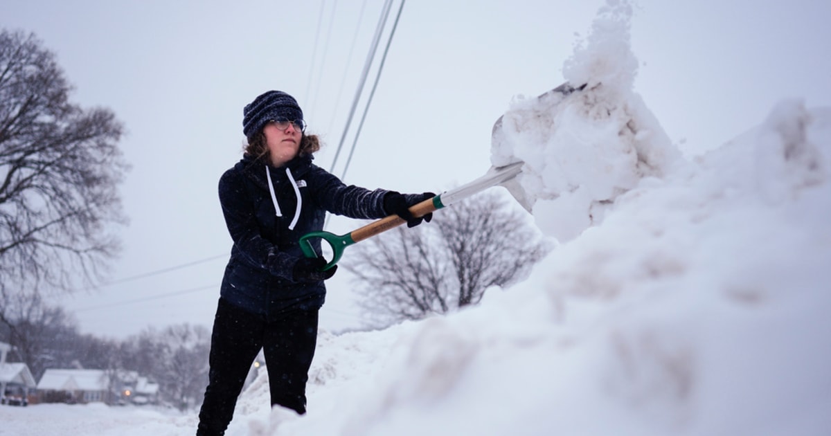
<instances>
[{"instance_id":1,"label":"white snow on the ground, in the tall bank and on shovel","mask_svg":"<svg viewBox=\"0 0 831 436\"><path fill-rule=\"evenodd\" d=\"M492 149L526 162L558 247L468 311L322 331L308 414L270 410L263 374L227 434L831 434L831 108L784 100L685 159L632 89L629 6L608 4L563 67L586 91L517 98ZM0 423L164 436L196 418L45 404Z\"/></svg>"}]
</instances>

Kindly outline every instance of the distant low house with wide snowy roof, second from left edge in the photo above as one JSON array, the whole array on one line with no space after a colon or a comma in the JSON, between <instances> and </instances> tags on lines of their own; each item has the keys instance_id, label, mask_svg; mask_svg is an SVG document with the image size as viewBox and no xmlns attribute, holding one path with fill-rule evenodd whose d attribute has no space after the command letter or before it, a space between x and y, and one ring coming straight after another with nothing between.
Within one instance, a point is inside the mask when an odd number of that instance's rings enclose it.
<instances>
[{"instance_id":1,"label":"distant low house with wide snowy roof, second from left edge","mask_svg":"<svg viewBox=\"0 0 831 436\"><path fill-rule=\"evenodd\" d=\"M37 393L43 402L110 403L110 377L105 370L46 370Z\"/></svg>"}]
</instances>

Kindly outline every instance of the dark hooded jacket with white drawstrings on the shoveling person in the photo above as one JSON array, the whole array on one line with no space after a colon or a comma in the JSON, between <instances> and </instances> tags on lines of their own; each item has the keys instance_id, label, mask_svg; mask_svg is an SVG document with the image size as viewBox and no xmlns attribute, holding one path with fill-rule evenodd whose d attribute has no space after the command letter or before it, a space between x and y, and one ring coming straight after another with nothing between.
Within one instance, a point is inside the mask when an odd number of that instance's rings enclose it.
<instances>
[{"instance_id":1,"label":"dark hooded jacket with white drawstrings on the shoveling person","mask_svg":"<svg viewBox=\"0 0 831 436\"><path fill-rule=\"evenodd\" d=\"M319 308L326 296L323 282L292 279L294 265L303 256L300 237L322 230L326 212L360 219L385 217L388 192L347 186L312 164L312 156L297 157L280 168L243 158L219 179L219 203L234 240L221 296L267 317L297 307ZM312 240L318 254L320 243Z\"/></svg>"}]
</instances>

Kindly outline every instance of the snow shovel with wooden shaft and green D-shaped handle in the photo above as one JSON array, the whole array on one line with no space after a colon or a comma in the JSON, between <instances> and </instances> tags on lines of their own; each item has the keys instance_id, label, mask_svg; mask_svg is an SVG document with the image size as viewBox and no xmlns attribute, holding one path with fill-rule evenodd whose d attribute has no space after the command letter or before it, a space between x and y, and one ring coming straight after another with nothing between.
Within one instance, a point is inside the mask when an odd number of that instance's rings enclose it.
<instances>
[{"instance_id":1,"label":"snow shovel with wooden shaft and green D-shaped handle","mask_svg":"<svg viewBox=\"0 0 831 436\"><path fill-rule=\"evenodd\" d=\"M538 96L537 100L553 98L557 99L553 101L553 103L556 104L559 100L562 100L563 97L568 96L573 91L583 90L584 87L585 85L574 88L569 86L568 83L564 83L563 85ZM499 117L499 120L496 120L494 123L491 140L497 145L502 140L501 116ZM450 204L469 198L472 195L479 194L484 191L484 189L488 189L496 185L502 185L507 188L509 193L511 193L514 198L522 204L525 210L530 212L533 204L530 204L527 198L525 198L523 189L519 187L516 179L514 179L517 174L521 172L523 165L524 162L520 160L518 162L500 167L491 167L488 172L482 177L479 177L479 179L475 179L468 184L463 184L458 188L450 189L449 191L445 191L444 193L436 195L433 198L426 199L421 203L412 205L410 207L410 212L414 217L420 218L427 213L450 206ZM315 252L314 247L312 247L312 242L309 241L309 239L322 238L322 240L328 242L329 245L332 246L333 256L332 261L327 263L325 267L322 267L322 271L326 271L327 269L334 267L335 264L341 260L343 250L346 247L349 247L353 243L361 242L366 238L371 238L378 233L386 232L391 228L396 228L404 223L406 223L404 218L401 218L398 215L390 215L386 218L381 218L377 221L366 224L366 226L357 228L356 230L344 235L336 235L329 232L307 233L300 238L300 248L306 257L317 257L317 252Z\"/></svg>"}]
</instances>

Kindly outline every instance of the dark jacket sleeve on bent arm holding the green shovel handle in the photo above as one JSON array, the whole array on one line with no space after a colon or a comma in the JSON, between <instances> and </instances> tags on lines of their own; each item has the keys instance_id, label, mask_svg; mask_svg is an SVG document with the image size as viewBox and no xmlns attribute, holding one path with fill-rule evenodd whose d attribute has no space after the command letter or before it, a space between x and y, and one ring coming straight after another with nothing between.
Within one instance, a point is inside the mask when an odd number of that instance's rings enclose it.
<instances>
[{"instance_id":1,"label":"dark jacket sleeve on bent arm holding the green shovel handle","mask_svg":"<svg viewBox=\"0 0 831 436\"><path fill-rule=\"evenodd\" d=\"M274 276L293 280L292 272L297 257L279 251L273 243L260 235L253 202L248 198L243 175L234 169L229 169L219 179L219 203L222 205L225 225L243 260Z\"/></svg>"}]
</instances>

